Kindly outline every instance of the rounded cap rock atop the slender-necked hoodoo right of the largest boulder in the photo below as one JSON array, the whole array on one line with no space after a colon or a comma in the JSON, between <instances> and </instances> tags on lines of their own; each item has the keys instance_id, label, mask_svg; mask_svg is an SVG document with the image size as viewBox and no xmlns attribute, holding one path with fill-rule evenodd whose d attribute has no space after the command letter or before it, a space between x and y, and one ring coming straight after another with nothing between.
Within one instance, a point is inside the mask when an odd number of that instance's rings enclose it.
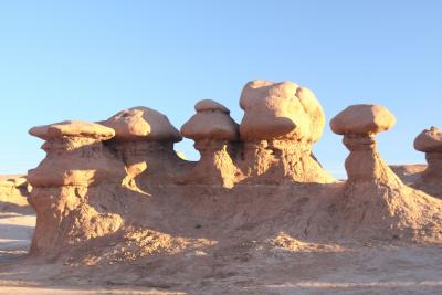
<instances>
[{"instance_id":1,"label":"rounded cap rock atop the slender-necked hoodoo right of the largest boulder","mask_svg":"<svg viewBox=\"0 0 442 295\"><path fill-rule=\"evenodd\" d=\"M330 122L335 134L378 134L396 124L394 116L383 106L352 105L340 112Z\"/></svg>"}]
</instances>

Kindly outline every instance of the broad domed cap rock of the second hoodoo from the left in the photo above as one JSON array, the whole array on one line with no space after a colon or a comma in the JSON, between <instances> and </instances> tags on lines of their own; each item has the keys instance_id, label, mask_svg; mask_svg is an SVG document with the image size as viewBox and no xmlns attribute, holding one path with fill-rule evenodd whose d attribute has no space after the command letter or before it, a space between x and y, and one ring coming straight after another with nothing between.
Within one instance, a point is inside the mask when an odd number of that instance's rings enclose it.
<instances>
[{"instance_id":1,"label":"broad domed cap rock of the second hoodoo from the left","mask_svg":"<svg viewBox=\"0 0 442 295\"><path fill-rule=\"evenodd\" d=\"M115 130L115 140L118 141L172 141L182 140L179 131L161 113L137 106L122 110L107 120L101 122L104 126Z\"/></svg>"}]
</instances>

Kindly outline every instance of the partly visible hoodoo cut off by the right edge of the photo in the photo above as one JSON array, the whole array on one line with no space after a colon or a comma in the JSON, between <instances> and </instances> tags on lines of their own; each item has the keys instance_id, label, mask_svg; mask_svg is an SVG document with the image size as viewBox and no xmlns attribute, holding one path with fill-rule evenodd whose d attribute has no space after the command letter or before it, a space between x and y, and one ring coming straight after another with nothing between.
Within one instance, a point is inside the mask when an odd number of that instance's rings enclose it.
<instances>
[{"instance_id":1,"label":"partly visible hoodoo cut off by the right edge of the photo","mask_svg":"<svg viewBox=\"0 0 442 295\"><path fill-rule=\"evenodd\" d=\"M414 148L425 152L427 169L413 187L442 198L442 129L432 126L414 139Z\"/></svg>"}]
</instances>

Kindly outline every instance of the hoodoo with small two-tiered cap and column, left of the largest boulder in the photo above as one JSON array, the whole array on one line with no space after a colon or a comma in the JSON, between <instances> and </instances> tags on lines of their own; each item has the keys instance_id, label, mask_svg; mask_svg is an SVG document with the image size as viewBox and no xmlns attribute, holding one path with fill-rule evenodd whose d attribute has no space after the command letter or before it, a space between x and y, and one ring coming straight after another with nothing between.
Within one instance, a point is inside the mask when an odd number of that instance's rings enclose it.
<instances>
[{"instance_id":1,"label":"hoodoo with small two-tiered cap and column, left of the largest boulder","mask_svg":"<svg viewBox=\"0 0 442 295\"><path fill-rule=\"evenodd\" d=\"M193 115L182 127L181 134L194 140L201 154L197 167L185 177L185 182L206 182L232 187L236 167L230 156L231 143L239 139L238 124L223 105L203 99L194 106Z\"/></svg>"}]
</instances>

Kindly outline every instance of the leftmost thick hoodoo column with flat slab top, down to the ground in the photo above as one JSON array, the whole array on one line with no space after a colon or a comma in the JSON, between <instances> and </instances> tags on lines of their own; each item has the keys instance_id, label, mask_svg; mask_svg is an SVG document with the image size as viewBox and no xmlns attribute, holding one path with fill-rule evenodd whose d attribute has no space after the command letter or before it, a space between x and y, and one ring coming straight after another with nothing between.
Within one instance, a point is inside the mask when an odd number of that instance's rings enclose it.
<instances>
[{"instance_id":1,"label":"leftmost thick hoodoo column with flat slab top, down to the ground","mask_svg":"<svg viewBox=\"0 0 442 295\"><path fill-rule=\"evenodd\" d=\"M36 212L31 252L51 253L60 244L118 230L123 223L118 214L90 204L99 199L101 185L119 186L124 176L123 164L102 144L114 130L93 123L62 122L29 133L45 140L46 151L43 161L28 172L33 187L29 202Z\"/></svg>"}]
</instances>

